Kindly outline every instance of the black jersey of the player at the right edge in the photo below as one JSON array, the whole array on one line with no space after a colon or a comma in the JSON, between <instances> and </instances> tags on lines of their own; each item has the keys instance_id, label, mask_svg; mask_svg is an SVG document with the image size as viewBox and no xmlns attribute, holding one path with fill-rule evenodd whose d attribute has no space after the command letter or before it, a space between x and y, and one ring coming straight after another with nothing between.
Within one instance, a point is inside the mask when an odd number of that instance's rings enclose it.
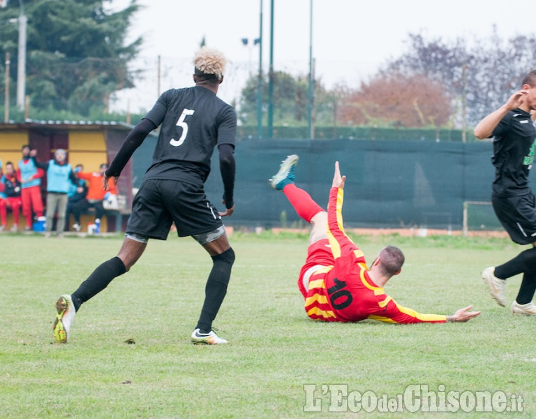
<instances>
[{"instance_id":1,"label":"black jersey of the player at the right edge","mask_svg":"<svg viewBox=\"0 0 536 419\"><path fill-rule=\"evenodd\" d=\"M530 114L511 110L493 130L494 196L518 196L530 191L528 172L533 166L536 128Z\"/></svg>"}]
</instances>

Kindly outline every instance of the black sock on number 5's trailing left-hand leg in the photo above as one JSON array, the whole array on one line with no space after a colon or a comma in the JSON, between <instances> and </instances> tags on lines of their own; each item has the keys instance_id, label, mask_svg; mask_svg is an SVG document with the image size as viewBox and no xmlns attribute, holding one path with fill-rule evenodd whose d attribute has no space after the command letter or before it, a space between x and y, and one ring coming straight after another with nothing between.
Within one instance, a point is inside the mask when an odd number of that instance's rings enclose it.
<instances>
[{"instance_id":1,"label":"black sock on number 5's trailing left-hand leg","mask_svg":"<svg viewBox=\"0 0 536 419\"><path fill-rule=\"evenodd\" d=\"M93 271L89 277L80 284L78 289L70 296L73 299L73 304L75 310L78 311L78 308L82 303L89 300L91 297L94 297L104 288L112 282L112 279L119 277L126 272L126 267L123 263L123 260L117 256L106 260L105 263L102 263Z\"/></svg>"}]
</instances>

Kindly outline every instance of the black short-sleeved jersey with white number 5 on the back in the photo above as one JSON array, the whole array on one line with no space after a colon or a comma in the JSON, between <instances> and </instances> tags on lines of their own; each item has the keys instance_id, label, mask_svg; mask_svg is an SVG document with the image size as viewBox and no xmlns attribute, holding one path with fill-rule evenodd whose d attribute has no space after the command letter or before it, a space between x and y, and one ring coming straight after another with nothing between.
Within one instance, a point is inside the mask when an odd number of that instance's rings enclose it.
<instances>
[{"instance_id":1,"label":"black short-sleeved jersey with white number 5 on the back","mask_svg":"<svg viewBox=\"0 0 536 419\"><path fill-rule=\"evenodd\" d=\"M144 179L204 182L214 147L234 146L236 112L204 87L165 91L145 118L161 131Z\"/></svg>"}]
</instances>

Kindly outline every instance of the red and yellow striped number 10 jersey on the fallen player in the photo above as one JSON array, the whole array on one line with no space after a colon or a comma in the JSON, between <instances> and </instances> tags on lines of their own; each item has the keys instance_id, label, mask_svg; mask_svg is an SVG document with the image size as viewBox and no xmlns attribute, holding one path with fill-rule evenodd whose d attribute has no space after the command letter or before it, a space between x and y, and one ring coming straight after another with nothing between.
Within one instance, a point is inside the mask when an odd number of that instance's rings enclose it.
<instances>
[{"instance_id":1,"label":"red and yellow striped number 10 jersey on the fallen player","mask_svg":"<svg viewBox=\"0 0 536 419\"><path fill-rule=\"evenodd\" d=\"M320 253L322 247L330 249L332 265L315 270L308 281L308 289L301 285L307 315L322 321L355 322L371 318L389 323L445 323L446 316L419 314L402 307L385 294L382 287L374 284L368 276L363 252L344 232L342 206L343 189L333 187L327 210L328 239L311 245ZM323 263L319 264L326 265L326 257L320 259ZM304 268L311 264L314 265L314 260L308 260ZM302 269L299 284L304 272Z\"/></svg>"}]
</instances>

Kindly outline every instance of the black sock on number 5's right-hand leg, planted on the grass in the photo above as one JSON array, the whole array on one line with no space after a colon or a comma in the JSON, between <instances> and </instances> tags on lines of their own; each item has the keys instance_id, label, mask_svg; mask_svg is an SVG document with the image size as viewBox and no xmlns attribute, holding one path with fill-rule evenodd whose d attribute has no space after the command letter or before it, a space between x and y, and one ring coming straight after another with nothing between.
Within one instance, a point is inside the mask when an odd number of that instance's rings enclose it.
<instances>
[{"instance_id":1,"label":"black sock on number 5's right-hand leg, planted on the grass","mask_svg":"<svg viewBox=\"0 0 536 419\"><path fill-rule=\"evenodd\" d=\"M204 287L203 308L196 326L201 333L209 333L212 330L212 321L216 318L227 293L231 267L234 263L234 251L229 248L219 255L212 256L212 261L214 265L207 279L207 285Z\"/></svg>"}]
</instances>

